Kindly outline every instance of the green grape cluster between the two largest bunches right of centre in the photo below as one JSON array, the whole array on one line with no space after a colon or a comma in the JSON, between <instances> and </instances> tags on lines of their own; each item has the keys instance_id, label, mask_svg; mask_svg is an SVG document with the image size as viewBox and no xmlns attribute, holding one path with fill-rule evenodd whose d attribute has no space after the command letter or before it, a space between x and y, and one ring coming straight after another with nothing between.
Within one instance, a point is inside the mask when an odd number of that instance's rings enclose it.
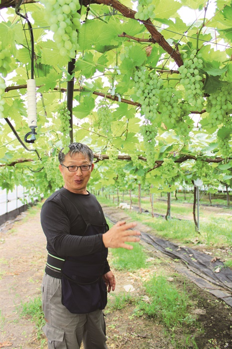
<instances>
[{"instance_id":1,"label":"green grape cluster between the two largest bunches right of centre","mask_svg":"<svg viewBox=\"0 0 232 349\"><path fill-rule=\"evenodd\" d=\"M180 117L180 92L172 87L166 87L160 94L160 108L162 122L168 129L174 128Z\"/></svg>"}]
</instances>

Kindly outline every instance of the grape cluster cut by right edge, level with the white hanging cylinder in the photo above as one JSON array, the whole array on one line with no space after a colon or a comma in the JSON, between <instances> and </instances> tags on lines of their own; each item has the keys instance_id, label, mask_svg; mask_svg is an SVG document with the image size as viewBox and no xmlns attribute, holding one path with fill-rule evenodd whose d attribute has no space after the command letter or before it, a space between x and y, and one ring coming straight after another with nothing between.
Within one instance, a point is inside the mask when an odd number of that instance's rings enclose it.
<instances>
[{"instance_id":1,"label":"grape cluster cut by right edge, level with the white hanging cylinder","mask_svg":"<svg viewBox=\"0 0 232 349\"><path fill-rule=\"evenodd\" d=\"M227 114L232 109L231 91L232 85L227 84L208 97L206 110L209 113L209 128L221 125L224 119L227 120Z\"/></svg>"}]
</instances>

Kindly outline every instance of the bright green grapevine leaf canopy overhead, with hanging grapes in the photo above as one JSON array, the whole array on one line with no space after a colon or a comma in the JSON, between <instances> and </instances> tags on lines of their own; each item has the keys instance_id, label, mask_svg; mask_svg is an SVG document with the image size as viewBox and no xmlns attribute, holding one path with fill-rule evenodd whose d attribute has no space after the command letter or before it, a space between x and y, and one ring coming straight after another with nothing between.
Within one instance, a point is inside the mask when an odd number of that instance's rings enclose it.
<instances>
[{"instance_id":1,"label":"bright green grapevine leaf canopy overhead, with hanging grapes","mask_svg":"<svg viewBox=\"0 0 232 349\"><path fill-rule=\"evenodd\" d=\"M64 138L69 118L63 118L64 131L56 111L67 102L67 82L72 79L74 141L88 144L101 155L116 150L119 156L130 156L133 164L128 164L120 185L129 188L133 182L147 181L154 190L170 191L177 182L194 179L194 161L189 166L188 158L217 157L222 164L228 163L232 137L231 2L217 1L214 8L202 0L166 0L165 6L161 0L127 0L120 1L122 12L103 2L80 8L78 1L41 1L20 9L33 18L38 128L36 141L28 148L36 149L39 156L24 149L2 119L2 188L9 190L16 183L29 188L35 183L36 191L45 194L60 186L60 179L52 179L57 176L55 167L51 166L50 175L45 167L39 170L51 155L67 146L68 137ZM197 12L198 21L186 18L191 12L188 9ZM141 21L149 16L149 24ZM25 84L31 77L31 37L24 22L15 17L13 8L2 12L0 116L9 118L21 140L30 131ZM68 65L74 58L71 72ZM101 114L103 111L106 113ZM146 161L138 164L138 157ZM30 160L30 165L22 159ZM157 161L165 159L185 161L184 171L175 164L168 179L160 180L162 171L158 169L147 174ZM96 188L101 187L107 174L108 183L118 188L116 172L126 166L115 164L99 166L92 185L95 182ZM221 180L230 185L230 171L215 167L205 181L216 185Z\"/></svg>"}]
</instances>

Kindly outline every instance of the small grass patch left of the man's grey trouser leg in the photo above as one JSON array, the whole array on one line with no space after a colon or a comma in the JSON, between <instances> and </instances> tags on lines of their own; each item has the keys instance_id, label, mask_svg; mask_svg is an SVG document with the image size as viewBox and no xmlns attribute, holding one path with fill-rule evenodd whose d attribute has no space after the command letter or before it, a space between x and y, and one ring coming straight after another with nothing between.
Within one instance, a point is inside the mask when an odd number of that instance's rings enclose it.
<instances>
[{"instance_id":1,"label":"small grass patch left of the man's grey trouser leg","mask_svg":"<svg viewBox=\"0 0 232 349\"><path fill-rule=\"evenodd\" d=\"M37 340L42 338L42 327L45 325L45 319L42 311L41 297L29 300L29 302L21 303L19 316L33 322L36 327Z\"/></svg>"}]
</instances>

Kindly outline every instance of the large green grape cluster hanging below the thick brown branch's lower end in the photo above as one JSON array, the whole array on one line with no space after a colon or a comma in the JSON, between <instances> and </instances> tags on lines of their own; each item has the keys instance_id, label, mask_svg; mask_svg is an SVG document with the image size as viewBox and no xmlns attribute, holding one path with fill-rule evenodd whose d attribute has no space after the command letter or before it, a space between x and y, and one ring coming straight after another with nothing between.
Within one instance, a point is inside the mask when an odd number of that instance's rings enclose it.
<instances>
[{"instance_id":1,"label":"large green grape cluster hanging below the thick brown branch's lower end","mask_svg":"<svg viewBox=\"0 0 232 349\"><path fill-rule=\"evenodd\" d=\"M197 54L197 50L193 50L190 59L187 59L187 54L184 54L183 58L185 59L184 65L181 65L178 70L181 76L180 83L185 88L185 99L190 105L201 111L204 104L203 77L199 71L203 68L201 54Z\"/></svg>"}]
</instances>

